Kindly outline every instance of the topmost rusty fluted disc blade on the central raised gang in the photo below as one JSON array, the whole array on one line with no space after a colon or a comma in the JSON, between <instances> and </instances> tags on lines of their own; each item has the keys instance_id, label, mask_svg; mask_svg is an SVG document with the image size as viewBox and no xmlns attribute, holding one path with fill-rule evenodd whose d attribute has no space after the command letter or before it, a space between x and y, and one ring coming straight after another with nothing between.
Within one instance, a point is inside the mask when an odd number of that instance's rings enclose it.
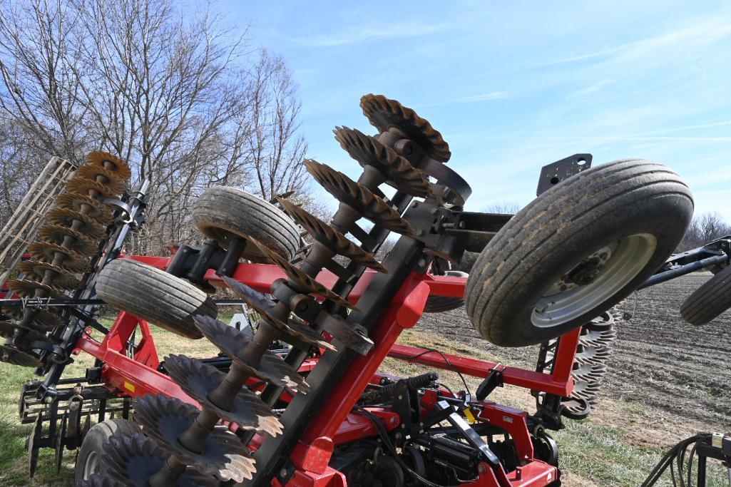
<instances>
[{"instance_id":1,"label":"topmost rusty fluted disc blade on the central raised gang","mask_svg":"<svg viewBox=\"0 0 731 487\"><path fill-rule=\"evenodd\" d=\"M411 108L383 95L367 94L360 98L363 115L379 132L391 132L398 137L413 140L422 150L439 162L450 160L450 146L431 124Z\"/></svg>"}]
</instances>

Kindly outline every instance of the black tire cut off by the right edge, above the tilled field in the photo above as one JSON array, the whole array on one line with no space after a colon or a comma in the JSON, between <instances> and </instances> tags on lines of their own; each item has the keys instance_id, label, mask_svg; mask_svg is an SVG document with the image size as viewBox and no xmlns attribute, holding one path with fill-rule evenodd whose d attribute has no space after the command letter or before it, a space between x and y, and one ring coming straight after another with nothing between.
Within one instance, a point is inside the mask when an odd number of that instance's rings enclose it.
<instances>
[{"instance_id":1,"label":"black tire cut off by the right edge, above the tilled field","mask_svg":"<svg viewBox=\"0 0 731 487\"><path fill-rule=\"evenodd\" d=\"M705 325L731 308L731 265L694 290L681 306L681 315L691 325Z\"/></svg>"}]
</instances>

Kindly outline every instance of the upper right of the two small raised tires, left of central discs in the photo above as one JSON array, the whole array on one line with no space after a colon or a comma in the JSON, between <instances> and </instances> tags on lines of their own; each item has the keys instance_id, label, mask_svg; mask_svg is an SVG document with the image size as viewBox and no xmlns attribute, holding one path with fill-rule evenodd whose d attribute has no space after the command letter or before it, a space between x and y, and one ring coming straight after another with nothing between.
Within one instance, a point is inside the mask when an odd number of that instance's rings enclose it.
<instances>
[{"instance_id":1,"label":"upper right of the two small raised tires, left of central discs","mask_svg":"<svg viewBox=\"0 0 731 487\"><path fill-rule=\"evenodd\" d=\"M287 260L300 248L300 230L275 205L240 189L216 186L206 189L193 204L198 230L227 249L236 237L255 238ZM247 243L242 257L266 262L254 243Z\"/></svg>"}]
</instances>

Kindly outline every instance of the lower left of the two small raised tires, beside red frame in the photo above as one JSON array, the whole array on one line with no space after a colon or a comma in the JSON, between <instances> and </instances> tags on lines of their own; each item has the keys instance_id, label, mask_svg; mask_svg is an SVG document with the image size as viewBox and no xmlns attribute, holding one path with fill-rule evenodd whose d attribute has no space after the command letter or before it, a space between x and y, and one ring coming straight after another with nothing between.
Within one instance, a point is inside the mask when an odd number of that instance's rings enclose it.
<instances>
[{"instance_id":1,"label":"lower left of the two small raised tires, beside red frame","mask_svg":"<svg viewBox=\"0 0 731 487\"><path fill-rule=\"evenodd\" d=\"M117 309L189 339L202 333L196 314L215 318L216 303L193 284L131 259L105 265L96 279L96 294Z\"/></svg>"}]
</instances>

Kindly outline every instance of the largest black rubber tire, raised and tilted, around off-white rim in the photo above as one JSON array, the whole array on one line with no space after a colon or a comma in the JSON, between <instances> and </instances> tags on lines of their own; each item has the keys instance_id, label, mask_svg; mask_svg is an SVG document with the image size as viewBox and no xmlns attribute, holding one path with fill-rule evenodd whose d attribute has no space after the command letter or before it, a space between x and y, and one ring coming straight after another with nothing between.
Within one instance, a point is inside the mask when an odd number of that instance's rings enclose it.
<instances>
[{"instance_id":1,"label":"largest black rubber tire, raised and tilted, around off-white rim","mask_svg":"<svg viewBox=\"0 0 731 487\"><path fill-rule=\"evenodd\" d=\"M467 314L485 339L502 347L556 338L645 282L681 241L692 214L688 187L662 165L626 159L584 170L533 200L485 246L467 280ZM640 233L654 235L656 248L634 278L595 306L588 301L583 314L534 325L535 305L559 277L593 252Z\"/></svg>"}]
</instances>

